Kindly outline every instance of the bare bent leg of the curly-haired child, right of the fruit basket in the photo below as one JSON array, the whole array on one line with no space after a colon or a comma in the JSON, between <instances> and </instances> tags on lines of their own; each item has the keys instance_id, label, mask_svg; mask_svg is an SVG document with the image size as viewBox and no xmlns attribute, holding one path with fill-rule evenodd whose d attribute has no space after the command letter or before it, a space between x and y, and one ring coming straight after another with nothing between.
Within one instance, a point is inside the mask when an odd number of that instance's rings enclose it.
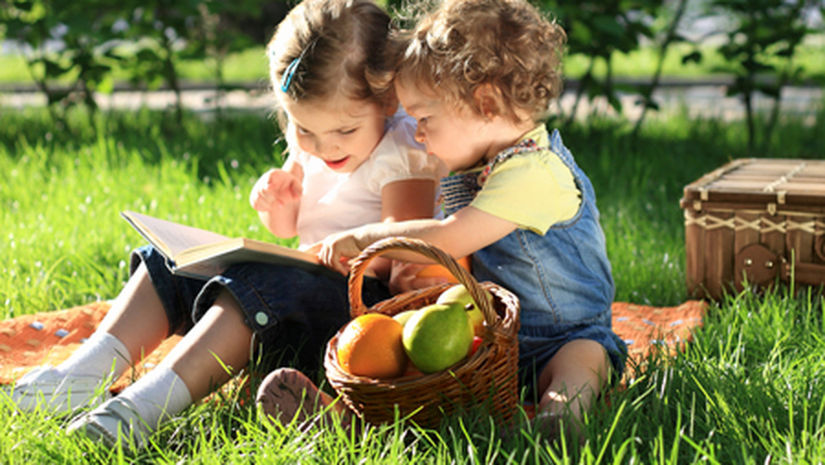
<instances>
[{"instance_id":1,"label":"bare bent leg of the curly-haired child, right of the fruit basket","mask_svg":"<svg viewBox=\"0 0 825 465\"><path fill-rule=\"evenodd\" d=\"M577 426L582 412L601 393L609 370L607 353L596 341L575 339L564 344L540 374L540 414L561 416L569 409L575 420L571 424Z\"/></svg>"}]
</instances>

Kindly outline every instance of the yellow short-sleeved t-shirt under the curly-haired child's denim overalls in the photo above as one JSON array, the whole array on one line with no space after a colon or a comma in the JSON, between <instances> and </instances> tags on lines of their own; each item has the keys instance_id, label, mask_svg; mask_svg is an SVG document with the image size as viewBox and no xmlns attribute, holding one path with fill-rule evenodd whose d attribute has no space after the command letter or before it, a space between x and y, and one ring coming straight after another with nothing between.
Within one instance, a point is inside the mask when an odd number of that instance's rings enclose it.
<instances>
[{"instance_id":1,"label":"yellow short-sleeved t-shirt under the curly-haired child's denim overalls","mask_svg":"<svg viewBox=\"0 0 825 465\"><path fill-rule=\"evenodd\" d=\"M570 168L546 148L549 135L544 125L530 130L521 140L525 139L535 140L542 149L514 154L497 164L470 205L544 235L550 226L576 215L582 195Z\"/></svg>"}]
</instances>

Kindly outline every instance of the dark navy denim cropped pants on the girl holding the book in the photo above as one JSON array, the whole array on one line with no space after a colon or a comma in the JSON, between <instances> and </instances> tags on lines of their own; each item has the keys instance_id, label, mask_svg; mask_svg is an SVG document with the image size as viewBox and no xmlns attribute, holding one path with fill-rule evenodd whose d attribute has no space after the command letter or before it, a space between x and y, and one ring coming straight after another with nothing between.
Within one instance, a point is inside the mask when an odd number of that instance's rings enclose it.
<instances>
[{"instance_id":1,"label":"dark navy denim cropped pants on the girl holding the book","mask_svg":"<svg viewBox=\"0 0 825 465\"><path fill-rule=\"evenodd\" d=\"M347 278L268 263L239 263L203 281L170 272L167 260L146 245L134 250L130 272L145 263L169 320L169 335L184 335L221 290L238 301L254 333L257 368L290 365L316 372L329 338L350 320ZM364 278L361 299L372 306L390 297L387 286ZM232 337L232 335L227 335Z\"/></svg>"}]
</instances>

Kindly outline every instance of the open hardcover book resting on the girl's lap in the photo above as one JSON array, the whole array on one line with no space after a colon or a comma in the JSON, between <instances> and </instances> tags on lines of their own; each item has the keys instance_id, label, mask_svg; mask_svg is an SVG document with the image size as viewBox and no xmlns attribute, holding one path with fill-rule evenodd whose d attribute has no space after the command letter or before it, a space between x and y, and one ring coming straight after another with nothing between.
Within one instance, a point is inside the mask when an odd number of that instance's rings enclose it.
<instances>
[{"instance_id":1,"label":"open hardcover book resting on the girl's lap","mask_svg":"<svg viewBox=\"0 0 825 465\"><path fill-rule=\"evenodd\" d=\"M172 273L181 276L209 279L235 263L259 262L304 268L344 279L320 264L314 254L297 249L243 237L230 238L134 211L123 211L120 215L166 256Z\"/></svg>"}]
</instances>

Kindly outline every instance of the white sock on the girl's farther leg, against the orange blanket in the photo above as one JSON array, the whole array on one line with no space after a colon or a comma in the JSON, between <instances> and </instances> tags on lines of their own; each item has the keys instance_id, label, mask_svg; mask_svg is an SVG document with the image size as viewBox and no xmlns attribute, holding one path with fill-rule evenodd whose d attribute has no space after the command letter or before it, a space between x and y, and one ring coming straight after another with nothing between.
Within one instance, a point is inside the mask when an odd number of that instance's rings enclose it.
<instances>
[{"instance_id":1,"label":"white sock on the girl's farther leg, against the orange blanket","mask_svg":"<svg viewBox=\"0 0 825 465\"><path fill-rule=\"evenodd\" d=\"M64 376L104 378L111 373L114 381L130 367L130 363L129 349L120 339L105 331L96 331L55 369Z\"/></svg>"}]
</instances>

